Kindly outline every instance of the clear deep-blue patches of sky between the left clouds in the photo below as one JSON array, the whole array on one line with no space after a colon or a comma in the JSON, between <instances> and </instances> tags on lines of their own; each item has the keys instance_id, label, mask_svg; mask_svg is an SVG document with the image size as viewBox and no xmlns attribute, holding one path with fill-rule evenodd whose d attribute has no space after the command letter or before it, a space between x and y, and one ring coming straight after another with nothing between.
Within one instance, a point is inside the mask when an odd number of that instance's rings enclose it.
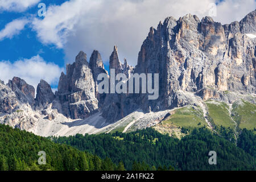
<instances>
[{"instance_id":1,"label":"clear deep-blue patches of sky between the left clouds","mask_svg":"<svg viewBox=\"0 0 256 182\"><path fill-rule=\"evenodd\" d=\"M44 2L46 6L61 5L64 0L46 0L42 2ZM38 3L36 5L38 5ZM31 15L36 16L39 10L36 5L21 13L8 11L2 12L0 14L0 30L5 28L5 25L14 19L29 17ZM63 49L56 48L54 44L42 44L38 38L36 38L36 32L32 31L28 25L12 39L3 39L0 42L0 50L0 60L10 60L13 62L22 59L23 57L29 58L35 55L40 55L44 60L55 62L60 67L64 66Z\"/></svg>"}]
</instances>

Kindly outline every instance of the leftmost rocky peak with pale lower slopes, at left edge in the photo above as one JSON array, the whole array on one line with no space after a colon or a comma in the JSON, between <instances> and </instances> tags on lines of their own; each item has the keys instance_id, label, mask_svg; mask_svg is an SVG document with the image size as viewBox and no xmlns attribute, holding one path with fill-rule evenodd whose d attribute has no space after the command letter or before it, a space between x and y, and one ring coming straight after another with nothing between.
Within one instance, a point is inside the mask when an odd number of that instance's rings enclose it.
<instances>
[{"instance_id":1,"label":"leftmost rocky peak with pale lower slopes, at left edge","mask_svg":"<svg viewBox=\"0 0 256 182\"><path fill-rule=\"evenodd\" d=\"M34 106L35 89L24 80L14 77L8 84L0 81L0 118L1 123L31 129L36 120L32 107Z\"/></svg>"}]
</instances>

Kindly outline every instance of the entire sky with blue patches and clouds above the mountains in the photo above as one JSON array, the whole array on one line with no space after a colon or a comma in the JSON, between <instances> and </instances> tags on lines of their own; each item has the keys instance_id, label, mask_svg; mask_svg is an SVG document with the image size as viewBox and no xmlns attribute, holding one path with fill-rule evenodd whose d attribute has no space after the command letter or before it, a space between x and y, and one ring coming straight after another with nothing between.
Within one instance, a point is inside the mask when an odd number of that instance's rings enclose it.
<instances>
[{"instance_id":1,"label":"entire sky with blue patches and clouds above the mountains","mask_svg":"<svg viewBox=\"0 0 256 182\"><path fill-rule=\"evenodd\" d=\"M38 16L39 3L46 16ZM22 77L36 87L41 78L56 90L60 72L79 51L98 49L108 67L114 45L119 59L137 63L151 26L167 16L209 15L222 24L241 20L256 7L255 0L0 0L0 79Z\"/></svg>"}]
</instances>

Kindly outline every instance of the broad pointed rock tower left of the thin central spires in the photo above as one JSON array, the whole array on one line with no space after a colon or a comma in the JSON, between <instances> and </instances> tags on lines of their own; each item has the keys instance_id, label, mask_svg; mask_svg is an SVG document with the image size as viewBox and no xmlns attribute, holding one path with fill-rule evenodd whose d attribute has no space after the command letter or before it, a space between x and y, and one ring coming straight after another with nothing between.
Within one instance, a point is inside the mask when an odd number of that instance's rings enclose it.
<instances>
[{"instance_id":1,"label":"broad pointed rock tower left of the thin central spires","mask_svg":"<svg viewBox=\"0 0 256 182\"><path fill-rule=\"evenodd\" d=\"M61 73L57 96L62 112L73 119L86 118L97 111L93 75L84 52L76 56L75 63L67 65L67 75Z\"/></svg>"}]
</instances>

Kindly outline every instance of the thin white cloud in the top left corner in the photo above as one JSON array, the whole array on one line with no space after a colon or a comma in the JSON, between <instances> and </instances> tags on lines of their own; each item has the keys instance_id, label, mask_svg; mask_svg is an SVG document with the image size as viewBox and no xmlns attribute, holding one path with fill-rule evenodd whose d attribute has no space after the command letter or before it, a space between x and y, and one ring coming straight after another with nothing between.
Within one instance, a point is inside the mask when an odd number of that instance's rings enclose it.
<instances>
[{"instance_id":1,"label":"thin white cloud in the top left corner","mask_svg":"<svg viewBox=\"0 0 256 182\"><path fill-rule=\"evenodd\" d=\"M40 0L0 0L0 11L25 11Z\"/></svg>"}]
</instances>

